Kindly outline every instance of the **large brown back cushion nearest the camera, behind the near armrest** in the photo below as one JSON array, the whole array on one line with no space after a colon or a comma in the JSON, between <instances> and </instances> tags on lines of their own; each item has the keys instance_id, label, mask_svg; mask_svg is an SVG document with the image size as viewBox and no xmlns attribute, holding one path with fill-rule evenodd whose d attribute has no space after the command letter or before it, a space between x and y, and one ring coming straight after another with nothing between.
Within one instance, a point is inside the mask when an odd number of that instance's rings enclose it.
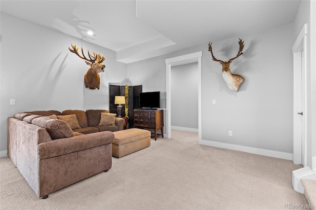
<instances>
[{"instance_id":1,"label":"large brown back cushion nearest the camera, behind the near armrest","mask_svg":"<svg viewBox=\"0 0 316 210\"><path fill-rule=\"evenodd\" d=\"M52 140L75 136L70 126L63 120L45 116L33 119L32 124L45 128Z\"/></svg>"}]
</instances>

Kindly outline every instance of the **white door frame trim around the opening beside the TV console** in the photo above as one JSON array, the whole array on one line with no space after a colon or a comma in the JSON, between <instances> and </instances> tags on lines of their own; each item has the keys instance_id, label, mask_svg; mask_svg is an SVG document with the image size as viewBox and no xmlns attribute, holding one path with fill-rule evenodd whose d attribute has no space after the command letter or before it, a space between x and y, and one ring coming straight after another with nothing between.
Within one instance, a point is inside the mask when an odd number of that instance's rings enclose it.
<instances>
[{"instance_id":1,"label":"white door frame trim around the opening beside the TV console","mask_svg":"<svg viewBox=\"0 0 316 210\"><path fill-rule=\"evenodd\" d=\"M171 138L171 67L191 64L197 62L197 74L198 74L198 142L201 141L201 90L202 90L202 51L191 53L183 56L169 58L165 60L166 63L166 138Z\"/></svg>"}]
</instances>

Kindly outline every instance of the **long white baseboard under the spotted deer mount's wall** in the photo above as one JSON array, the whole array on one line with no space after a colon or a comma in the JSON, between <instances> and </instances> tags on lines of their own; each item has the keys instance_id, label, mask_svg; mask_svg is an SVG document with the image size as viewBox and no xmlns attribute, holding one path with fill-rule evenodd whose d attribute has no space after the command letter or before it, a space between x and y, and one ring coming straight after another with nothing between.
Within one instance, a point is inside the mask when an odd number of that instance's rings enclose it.
<instances>
[{"instance_id":1,"label":"long white baseboard under the spotted deer mount's wall","mask_svg":"<svg viewBox=\"0 0 316 210\"><path fill-rule=\"evenodd\" d=\"M215 147L220 147L224 149L232 149L232 150L257 154L257 155L264 155L264 156L269 156L269 157L281 158L285 160L292 160L292 153L279 152L279 151L273 151L273 150L268 150L268 149L260 149L260 148L254 148L254 147L248 147L248 146L241 146L241 145L230 144L230 143L222 143L222 142L210 141L210 140L200 140L198 143L206 145L206 146L215 146Z\"/></svg>"}]
</instances>

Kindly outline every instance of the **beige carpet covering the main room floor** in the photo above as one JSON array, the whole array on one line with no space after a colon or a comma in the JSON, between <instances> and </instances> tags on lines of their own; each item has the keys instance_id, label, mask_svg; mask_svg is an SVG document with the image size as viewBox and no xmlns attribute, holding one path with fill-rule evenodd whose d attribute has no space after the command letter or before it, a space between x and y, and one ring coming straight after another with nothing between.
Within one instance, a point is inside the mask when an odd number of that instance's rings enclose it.
<instances>
[{"instance_id":1,"label":"beige carpet covering the main room floor","mask_svg":"<svg viewBox=\"0 0 316 210\"><path fill-rule=\"evenodd\" d=\"M308 205L292 188L291 161L199 145L197 133L122 158L41 200L9 158L0 159L1 210L283 210ZM286 209L286 208L285 208Z\"/></svg>"}]
</instances>

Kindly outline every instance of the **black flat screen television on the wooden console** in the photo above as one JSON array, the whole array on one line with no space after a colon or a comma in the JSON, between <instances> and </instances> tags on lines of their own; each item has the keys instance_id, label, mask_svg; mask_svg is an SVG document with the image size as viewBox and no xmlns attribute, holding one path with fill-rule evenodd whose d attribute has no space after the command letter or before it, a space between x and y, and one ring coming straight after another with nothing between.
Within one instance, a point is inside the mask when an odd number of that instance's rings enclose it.
<instances>
[{"instance_id":1,"label":"black flat screen television on the wooden console","mask_svg":"<svg viewBox=\"0 0 316 210\"><path fill-rule=\"evenodd\" d=\"M139 93L139 107L160 108L160 91Z\"/></svg>"}]
</instances>

